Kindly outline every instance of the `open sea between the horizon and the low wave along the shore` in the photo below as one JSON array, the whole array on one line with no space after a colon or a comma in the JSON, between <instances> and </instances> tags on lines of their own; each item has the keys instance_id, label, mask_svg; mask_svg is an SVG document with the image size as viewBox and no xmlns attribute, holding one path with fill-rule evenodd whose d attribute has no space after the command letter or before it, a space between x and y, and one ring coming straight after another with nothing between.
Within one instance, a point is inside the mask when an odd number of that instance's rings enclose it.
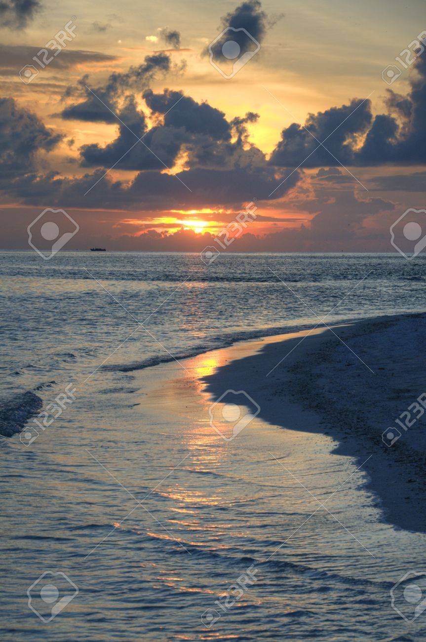
<instances>
[{"instance_id":1,"label":"open sea between the horizon and the low wave along the shore","mask_svg":"<svg viewBox=\"0 0 426 642\"><path fill-rule=\"evenodd\" d=\"M198 254L1 252L0 275L4 396L88 376L104 360L108 379L107 370L299 329L329 311L327 322L423 311L426 260L228 254L205 266Z\"/></svg>"}]
</instances>

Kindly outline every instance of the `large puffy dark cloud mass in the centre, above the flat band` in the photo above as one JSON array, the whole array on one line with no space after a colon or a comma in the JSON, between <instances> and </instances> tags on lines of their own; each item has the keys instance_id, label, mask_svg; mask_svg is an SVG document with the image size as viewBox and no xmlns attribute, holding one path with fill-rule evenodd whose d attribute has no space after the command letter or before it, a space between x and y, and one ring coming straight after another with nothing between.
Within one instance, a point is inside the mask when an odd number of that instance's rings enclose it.
<instances>
[{"instance_id":1,"label":"large puffy dark cloud mass in the centre, above the flat band","mask_svg":"<svg viewBox=\"0 0 426 642\"><path fill-rule=\"evenodd\" d=\"M162 123L148 128L145 116L129 100L117 115L119 135L101 148L87 145L81 150L83 166L120 169L162 169L171 167L180 152L185 152L186 168L246 168L266 166L266 157L248 141L247 123L258 115L228 122L225 114L208 103L197 103L182 92L169 89L156 94L147 89L143 94L153 121ZM137 138L141 143L136 143ZM232 138L234 137L234 140Z\"/></svg>"}]
</instances>

